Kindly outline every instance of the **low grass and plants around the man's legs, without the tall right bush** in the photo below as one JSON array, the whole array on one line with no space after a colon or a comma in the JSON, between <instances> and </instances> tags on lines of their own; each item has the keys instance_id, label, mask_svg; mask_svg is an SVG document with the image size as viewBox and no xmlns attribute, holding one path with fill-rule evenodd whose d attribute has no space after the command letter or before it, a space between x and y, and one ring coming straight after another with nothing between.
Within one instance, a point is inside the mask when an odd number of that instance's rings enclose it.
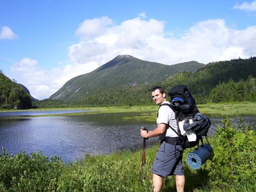
<instances>
[{"instance_id":1,"label":"low grass and plants around the man's legs, without the tall right bush","mask_svg":"<svg viewBox=\"0 0 256 192\"><path fill-rule=\"evenodd\" d=\"M210 137L209 142L216 150L218 145L216 137ZM145 171L141 166L141 149L110 155L89 156L87 154L84 160L70 165L63 164L56 158L48 163L45 157L35 154L32 159L25 154L20 155L19 158L5 156L5 158L0 158L2 163L0 191L152 192L150 168L158 148L159 145L146 147ZM249 192L256 189L255 186L247 183L241 184L238 188L235 185L228 187L211 185L209 183L210 160L207 160L199 170L192 170L187 166L186 154L193 150L192 148L186 149L183 154L186 192ZM9 179L5 179L6 183L3 183L2 178L7 177L6 175ZM141 179L143 176L145 180ZM175 190L174 176L165 178L162 191Z\"/></svg>"}]
</instances>

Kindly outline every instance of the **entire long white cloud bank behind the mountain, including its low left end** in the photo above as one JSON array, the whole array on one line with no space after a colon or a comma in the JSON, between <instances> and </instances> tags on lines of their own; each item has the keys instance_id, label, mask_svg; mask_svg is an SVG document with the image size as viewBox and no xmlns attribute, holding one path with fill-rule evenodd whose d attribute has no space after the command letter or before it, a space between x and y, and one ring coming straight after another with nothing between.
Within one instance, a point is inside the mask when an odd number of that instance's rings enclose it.
<instances>
[{"instance_id":1,"label":"entire long white cloud bank behind the mountain, including its low left end","mask_svg":"<svg viewBox=\"0 0 256 192\"><path fill-rule=\"evenodd\" d=\"M40 68L36 60L21 59L12 65L12 76L31 95L45 99L69 79L88 73L117 55L177 64L195 60L207 64L238 57L256 56L256 26L234 30L223 19L199 21L179 38L165 33L165 22L137 17L114 24L108 17L86 19L76 35L80 42L69 47L70 64L51 70Z\"/></svg>"}]
</instances>

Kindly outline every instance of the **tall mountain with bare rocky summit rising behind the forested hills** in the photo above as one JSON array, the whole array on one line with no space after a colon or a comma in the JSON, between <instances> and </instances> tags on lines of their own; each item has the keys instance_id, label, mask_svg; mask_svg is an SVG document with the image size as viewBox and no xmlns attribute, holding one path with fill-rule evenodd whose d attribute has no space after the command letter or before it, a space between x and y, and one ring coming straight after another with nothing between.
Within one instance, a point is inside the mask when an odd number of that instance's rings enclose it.
<instances>
[{"instance_id":1,"label":"tall mountain with bare rocky summit rising behind the forested hills","mask_svg":"<svg viewBox=\"0 0 256 192\"><path fill-rule=\"evenodd\" d=\"M50 99L81 100L85 95L88 97L96 90L115 90L123 85L160 83L175 73L195 72L203 66L205 65L195 61L164 65L130 55L119 55L90 73L70 79L50 96Z\"/></svg>"}]
</instances>

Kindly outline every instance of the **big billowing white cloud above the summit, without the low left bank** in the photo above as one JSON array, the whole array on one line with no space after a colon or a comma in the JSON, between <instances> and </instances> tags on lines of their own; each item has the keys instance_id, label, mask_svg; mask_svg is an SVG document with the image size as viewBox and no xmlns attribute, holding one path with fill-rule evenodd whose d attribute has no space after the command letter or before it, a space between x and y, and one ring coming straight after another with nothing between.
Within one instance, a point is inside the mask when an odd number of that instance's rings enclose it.
<instances>
[{"instance_id":1,"label":"big billowing white cloud above the summit, without the low left bank","mask_svg":"<svg viewBox=\"0 0 256 192\"><path fill-rule=\"evenodd\" d=\"M119 25L107 17L86 19L76 33L81 41L69 47L72 62L95 61L101 65L117 55L132 55L163 64L191 60L207 64L256 55L252 46L256 43L255 26L239 31L226 26L223 19L209 19L174 37L172 31L164 31L164 21L145 19L144 13L142 16Z\"/></svg>"}]
</instances>

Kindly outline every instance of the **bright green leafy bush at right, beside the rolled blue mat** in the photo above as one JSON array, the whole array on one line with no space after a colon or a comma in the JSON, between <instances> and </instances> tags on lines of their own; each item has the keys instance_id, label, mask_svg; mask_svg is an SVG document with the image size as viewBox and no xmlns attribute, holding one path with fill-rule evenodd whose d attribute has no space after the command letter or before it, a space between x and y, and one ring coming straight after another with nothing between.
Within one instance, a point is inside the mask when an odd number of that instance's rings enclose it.
<instances>
[{"instance_id":1,"label":"bright green leafy bush at right, beside the rolled blue mat","mask_svg":"<svg viewBox=\"0 0 256 192\"><path fill-rule=\"evenodd\" d=\"M256 183L255 132L240 118L239 125L231 119L216 130L219 145L214 150L210 178L213 185L239 187L241 183ZM235 129L236 128L236 129ZM238 129L237 129L238 128Z\"/></svg>"}]
</instances>

